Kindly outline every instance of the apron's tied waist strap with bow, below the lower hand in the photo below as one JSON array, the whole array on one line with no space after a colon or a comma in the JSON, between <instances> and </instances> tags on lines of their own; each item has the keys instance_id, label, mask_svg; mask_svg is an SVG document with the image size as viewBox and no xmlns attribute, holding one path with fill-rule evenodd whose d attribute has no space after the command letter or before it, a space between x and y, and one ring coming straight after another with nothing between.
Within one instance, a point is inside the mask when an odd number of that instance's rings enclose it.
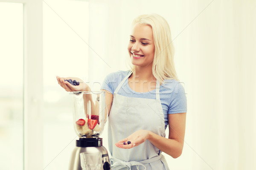
<instances>
[{"instance_id":1,"label":"apron's tied waist strap with bow, below the lower hand","mask_svg":"<svg viewBox=\"0 0 256 170\"><path fill-rule=\"evenodd\" d=\"M138 165L142 166L143 169L145 170L146 167L143 164L148 164L148 163L157 161L157 160L159 160L161 158L162 158L161 154L159 156L154 156L153 158L146 159L146 160L140 161L140 162L137 162L137 161L125 162L125 161L122 161L122 160L117 159L117 158L111 158L110 159L111 170L119 170L119 169L122 169L122 168L125 168L125 167L128 167L129 170L131 170L132 166L136 166L137 170L139 170L138 167L137 167Z\"/></svg>"}]
</instances>

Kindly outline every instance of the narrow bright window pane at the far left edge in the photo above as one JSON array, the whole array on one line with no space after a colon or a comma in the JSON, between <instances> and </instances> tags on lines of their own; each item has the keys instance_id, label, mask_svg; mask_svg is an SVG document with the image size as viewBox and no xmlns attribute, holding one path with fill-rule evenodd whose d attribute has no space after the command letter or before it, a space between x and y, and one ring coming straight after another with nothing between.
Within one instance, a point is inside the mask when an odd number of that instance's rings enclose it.
<instances>
[{"instance_id":1,"label":"narrow bright window pane at the far left edge","mask_svg":"<svg viewBox=\"0 0 256 170\"><path fill-rule=\"evenodd\" d=\"M23 170L23 4L0 3L0 167Z\"/></svg>"}]
</instances>

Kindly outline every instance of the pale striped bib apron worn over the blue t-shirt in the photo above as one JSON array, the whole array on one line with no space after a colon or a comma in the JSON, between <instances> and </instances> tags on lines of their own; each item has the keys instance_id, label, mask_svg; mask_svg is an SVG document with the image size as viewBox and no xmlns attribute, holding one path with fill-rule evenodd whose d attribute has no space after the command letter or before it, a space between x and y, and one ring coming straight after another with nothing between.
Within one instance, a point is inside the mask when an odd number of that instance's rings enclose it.
<instances>
[{"instance_id":1,"label":"pale striped bib apron worn over the blue t-shirt","mask_svg":"<svg viewBox=\"0 0 256 170\"><path fill-rule=\"evenodd\" d=\"M165 123L158 81L155 90L156 99L126 97L117 94L131 74L132 72L120 82L113 94L113 103L108 119L108 145L112 156L111 169L169 170L161 151L148 140L131 149L121 149L115 146L119 140L127 138L141 129L150 130L165 137Z\"/></svg>"}]
</instances>

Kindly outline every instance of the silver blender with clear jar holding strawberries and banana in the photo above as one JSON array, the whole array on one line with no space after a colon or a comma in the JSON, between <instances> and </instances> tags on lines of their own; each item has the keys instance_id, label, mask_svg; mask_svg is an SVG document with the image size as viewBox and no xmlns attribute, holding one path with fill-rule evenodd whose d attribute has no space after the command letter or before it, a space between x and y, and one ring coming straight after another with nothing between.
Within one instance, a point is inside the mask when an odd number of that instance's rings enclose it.
<instances>
[{"instance_id":1,"label":"silver blender with clear jar holding strawberries and banana","mask_svg":"<svg viewBox=\"0 0 256 170\"><path fill-rule=\"evenodd\" d=\"M69 170L111 170L108 151L102 145L102 138L99 138L108 118L105 91L76 91L70 94L73 96L73 125L79 140L76 140ZM82 158L82 155L93 154L99 155L100 160ZM97 167L92 167L95 164Z\"/></svg>"}]
</instances>

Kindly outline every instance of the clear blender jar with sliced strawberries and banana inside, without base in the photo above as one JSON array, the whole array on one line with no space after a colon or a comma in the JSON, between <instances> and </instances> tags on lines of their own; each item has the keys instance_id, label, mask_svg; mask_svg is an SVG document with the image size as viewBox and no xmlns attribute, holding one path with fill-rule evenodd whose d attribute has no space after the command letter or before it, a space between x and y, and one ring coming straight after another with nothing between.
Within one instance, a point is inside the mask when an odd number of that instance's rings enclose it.
<instances>
[{"instance_id":1,"label":"clear blender jar with sliced strawberries and banana inside, without base","mask_svg":"<svg viewBox=\"0 0 256 170\"><path fill-rule=\"evenodd\" d=\"M105 91L71 92L73 95L73 124L80 138L101 135L108 117Z\"/></svg>"}]
</instances>

